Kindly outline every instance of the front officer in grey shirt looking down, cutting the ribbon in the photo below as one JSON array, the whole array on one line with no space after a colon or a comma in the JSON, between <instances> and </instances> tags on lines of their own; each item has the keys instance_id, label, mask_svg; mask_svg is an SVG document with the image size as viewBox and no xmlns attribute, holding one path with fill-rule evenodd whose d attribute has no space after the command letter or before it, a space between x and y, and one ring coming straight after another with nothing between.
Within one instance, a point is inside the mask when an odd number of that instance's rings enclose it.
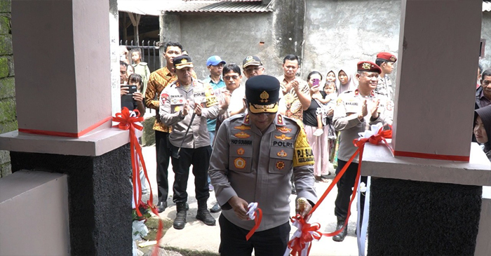
<instances>
[{"instance_id":1,"label":"front officer in grey shirt looking down, cutting the ribbon","mask_svg":"<svg viewBox=\"0 0 491 256\"><path fill-rule=\"evenodd\" d=\"M210 160L210 178L222 206L220 255L283 255L290 233L290 176L297 196L317 201L314 156L304 130L278 114L280 83L274 76L250 77L245 83L248 114L231 116L220 126ZM255 234L245 236L255 222L248 220L248 204L257 202L262 222Z\"/></svg>"}]
</instances>

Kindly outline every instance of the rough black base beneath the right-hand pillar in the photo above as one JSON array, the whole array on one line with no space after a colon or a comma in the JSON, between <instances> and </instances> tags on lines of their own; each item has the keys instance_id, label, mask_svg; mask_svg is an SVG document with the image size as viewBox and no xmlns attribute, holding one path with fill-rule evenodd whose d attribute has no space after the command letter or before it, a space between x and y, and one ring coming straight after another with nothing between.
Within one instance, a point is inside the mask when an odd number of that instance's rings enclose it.
<instances>
[{"instance_id":1,"label":"rough black base beneath the right-hand pillar","mask_svg":"<svg viewBox=\"0 0 491 256\"><path fill-rule=\"evenodd\" d=\"M473 255L482 187L372 177L368 255Z\"/></svg>"}]
</instances>

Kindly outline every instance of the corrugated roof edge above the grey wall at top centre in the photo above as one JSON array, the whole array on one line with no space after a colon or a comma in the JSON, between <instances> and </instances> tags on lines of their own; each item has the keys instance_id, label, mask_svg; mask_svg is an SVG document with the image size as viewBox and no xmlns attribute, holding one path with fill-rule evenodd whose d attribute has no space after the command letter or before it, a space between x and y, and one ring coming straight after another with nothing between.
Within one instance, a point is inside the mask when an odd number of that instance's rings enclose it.
<instances>
[{"instance_id":1,"label":"corrugated roof edge above the grey wall at top centre","mask_svg":"<svg viewBox=\"0 0 491 256\"><path fill-rule=\"evenodd\" d=\"M187 1L162 11L175 13L263 13L273 9L260 1Z\"/></svg>"}]
</instances>

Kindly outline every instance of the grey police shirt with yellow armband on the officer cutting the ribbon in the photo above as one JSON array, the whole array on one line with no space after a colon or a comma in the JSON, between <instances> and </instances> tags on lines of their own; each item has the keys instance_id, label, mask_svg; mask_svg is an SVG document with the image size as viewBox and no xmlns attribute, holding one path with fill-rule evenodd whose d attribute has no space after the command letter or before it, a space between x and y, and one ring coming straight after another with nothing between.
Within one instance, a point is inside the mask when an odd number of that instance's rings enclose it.
<instances>
[{"instance_id":1,"label":"grey police shirt with yellow armband on the officer cutting the ribbon","mask_svg":"<svg viewBox=\"0 0 491 256\"><path fill-rule=\"evenodd\" d=\"M297 196L316 203L313 163L307 136L293 119L276 114L263 135L248 114L237 114L218 130L208 173L224 217L250 230L254 221L238 219L228 201L257 202L263 214L257 231L264 231L288 222L291 175Z\"/></svg>"}]
</instances>

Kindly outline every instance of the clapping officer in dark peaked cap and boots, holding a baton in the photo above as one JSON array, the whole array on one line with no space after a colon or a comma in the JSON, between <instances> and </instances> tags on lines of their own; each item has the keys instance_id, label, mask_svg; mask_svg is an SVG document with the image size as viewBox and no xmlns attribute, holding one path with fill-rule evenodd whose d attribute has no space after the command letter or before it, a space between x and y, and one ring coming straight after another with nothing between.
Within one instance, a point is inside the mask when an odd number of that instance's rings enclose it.
<instances>
[{"instance_id":1,"label":"clapping officer in dark peaked cap and boots, holding a baton","mask_svg":"<svg viewBox=\"0 0 491 256\"><path fill-rule=\"evenodd\" d=\"M210 84L192 77L194 65L188 55L175 57L173 63L177 80L162 90L159 111L163 123L173 128L169 135L175 174L173 201L177 208L173 226L175 229L183 229L186 224L186 189L191 164L198 200L196 219L207 225L215 225L215 219L208 212L206 205L210 197L206 172L211 154L206 119L217 117L217 99ZM196 115L191 123L192 112ZM186 133L188 127L189 132ZM181 145L180 154L176 157L175 154Z\"/></svg>"}]
</instances>

